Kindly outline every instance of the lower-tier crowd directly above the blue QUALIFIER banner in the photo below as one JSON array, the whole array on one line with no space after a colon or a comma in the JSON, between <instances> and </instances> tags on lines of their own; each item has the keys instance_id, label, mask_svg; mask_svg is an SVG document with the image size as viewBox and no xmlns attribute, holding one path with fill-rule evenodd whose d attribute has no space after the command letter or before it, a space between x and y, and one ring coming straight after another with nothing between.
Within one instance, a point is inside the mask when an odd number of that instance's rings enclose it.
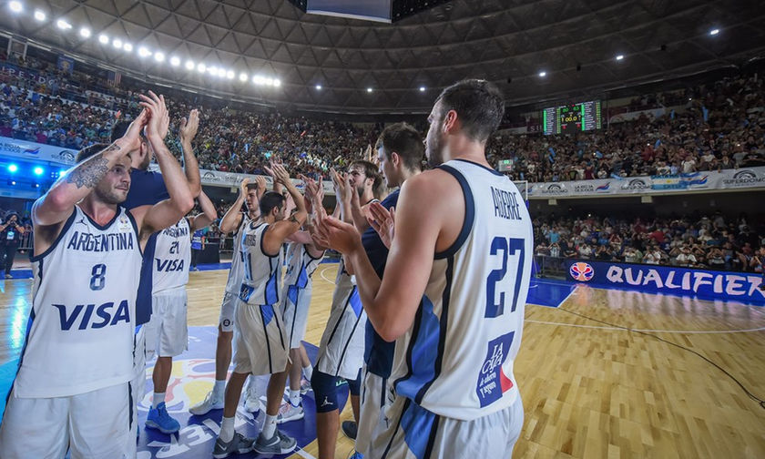
<instances>
[{"instance_id":1,"label":"lower-tier crowd directly above the blue QUALIFIER banner","mask_svg":"<svg viewBox=\"0 0 765 459\"><path fill-rule=\"evenodd\" d=\"M745 215L678 219L537 218L535 254L762 273L765 235Z\"/></svg>"}]
</instances>

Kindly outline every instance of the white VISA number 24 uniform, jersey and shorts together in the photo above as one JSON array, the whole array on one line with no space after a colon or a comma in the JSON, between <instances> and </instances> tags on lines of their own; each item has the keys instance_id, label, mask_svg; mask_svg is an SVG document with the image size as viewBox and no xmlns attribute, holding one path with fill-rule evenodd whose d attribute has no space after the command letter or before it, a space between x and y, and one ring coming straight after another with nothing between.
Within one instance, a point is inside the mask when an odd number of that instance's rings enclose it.
<instances>
[{"instance_id":1,"label":"white VISA number 24 uniform, jersey and shorts together","mask_svg":"<svg viewBox=\"0 0 765 459\"><path fill-rule=\"evenodd\" d=\"M191 239L186 217L148 240L144 257L151 263L151 321L146 324L149 350L175 357L189 347L186 284L189 283Z\"/></svg>"}]
</instances>

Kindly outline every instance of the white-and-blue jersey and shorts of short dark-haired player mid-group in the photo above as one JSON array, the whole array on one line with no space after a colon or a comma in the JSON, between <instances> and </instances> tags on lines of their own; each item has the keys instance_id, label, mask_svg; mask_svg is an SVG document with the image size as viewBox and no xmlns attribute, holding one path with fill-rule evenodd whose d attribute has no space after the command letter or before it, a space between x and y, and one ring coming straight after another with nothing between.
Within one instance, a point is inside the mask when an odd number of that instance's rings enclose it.
<instances>
[{"instance_id":1,"label":"white-and-blue jersey and shorts of short dark-haired player mid-group","mask_svg":"<svg viewBox=\"0 0 765 459\"><path fill-rule=\"evenodd\" d=\"M272 374L287 367L289 348L279 311L281 250L263 250L267 223L252 221L241 235L244 267L234 319L234 372Z\"/></svg>"}]
</instances>

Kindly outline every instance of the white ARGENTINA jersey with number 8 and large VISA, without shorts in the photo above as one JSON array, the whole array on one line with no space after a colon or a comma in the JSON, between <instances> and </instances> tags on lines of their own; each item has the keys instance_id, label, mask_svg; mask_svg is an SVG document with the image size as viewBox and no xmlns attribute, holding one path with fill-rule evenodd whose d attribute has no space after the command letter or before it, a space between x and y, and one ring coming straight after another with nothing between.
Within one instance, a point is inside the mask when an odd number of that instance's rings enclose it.
<instances>
[{"instance_id":1,"label":"white ARGENTINA jersey with number 8 and large VISA, without shorts","mask_svg":"<svg viewBox=\"0 0 765 459\"><path fill-rule=\"evenodd\" d=\"M127 210L102 227L75 206L53 245L32 258L15 396L67 397L130 381L141 260Z\"/></svg>"}]
</instances>

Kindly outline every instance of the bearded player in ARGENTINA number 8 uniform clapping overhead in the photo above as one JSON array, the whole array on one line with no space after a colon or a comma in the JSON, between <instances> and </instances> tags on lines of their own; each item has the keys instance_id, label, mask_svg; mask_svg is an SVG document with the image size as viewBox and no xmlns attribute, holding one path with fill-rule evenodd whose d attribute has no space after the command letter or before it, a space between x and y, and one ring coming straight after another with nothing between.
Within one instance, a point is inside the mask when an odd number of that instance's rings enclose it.
<instances>
[{"instance_id":1,"label":"bearded player in ARGENTINA number 8 uniform clapping overhead","mask_svg":"<svg viewBox=\"0 0 765 459\"><path fill-rule=\"evenodd\" d=\"M141 250L193 205L183 171L159 128L163 97L141 96L144 111L125 136L86 148L32 209L35 286L26 342L0 426L0 456L128 456ZM169 199L122 208L130 188L128 152L146 127ZM135 443L135 437L133 442Z\"/></svg>"}]
</instances>

